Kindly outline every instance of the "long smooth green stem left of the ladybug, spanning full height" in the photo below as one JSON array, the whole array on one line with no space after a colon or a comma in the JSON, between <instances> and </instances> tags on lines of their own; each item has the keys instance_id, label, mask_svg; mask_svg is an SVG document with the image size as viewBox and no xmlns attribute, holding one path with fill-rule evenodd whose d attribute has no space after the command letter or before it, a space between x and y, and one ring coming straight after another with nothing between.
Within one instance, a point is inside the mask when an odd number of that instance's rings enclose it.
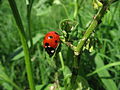
<instances>
[{"instance_id":1,"label":"long smooth green stem left of the ladybug, spanning full height","mask_svg":"<svg viewBox=\"0 0 120 90\"><path fill-rule=\"evenodd\" d=\"M14 0L8 0L10 7L12 9L15 21L17 23L18 26L18 32L21 38L21 43L23 46L23 50L24 50L24 55L25 55L25 64L26 64L26 71L27 71L27 77L28 77L28 81L29 81L29 86L31 90L35 90L35 85L34 85L34 80L33 80L33 73L32 73L32 66L31 66L31 60L30 60L30 53L29 53L29 48L28 48L28 44L27 44L27 40L26 40L26 36L25 36L25 31L24 31L24 27L22 24L22 20L20 18L17 6L16 6L16 2Z\"/></svg>"}]
</instances>

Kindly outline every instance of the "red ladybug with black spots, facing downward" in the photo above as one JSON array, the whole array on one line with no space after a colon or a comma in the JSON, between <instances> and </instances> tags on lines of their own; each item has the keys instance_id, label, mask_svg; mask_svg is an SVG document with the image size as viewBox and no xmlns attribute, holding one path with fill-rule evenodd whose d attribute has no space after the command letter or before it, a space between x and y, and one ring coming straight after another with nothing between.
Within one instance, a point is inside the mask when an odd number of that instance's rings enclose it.
<instances>
[{"instance_id":1,"label":"red ladybug with black spots, facing downward","mask_svg":"<svg viewBox=\"0 0 120 90\"><path fill-rule=\"evenodd\" d=\"M43 40L44 48L50 56L53 56L59 43L60 36L55 31L48 32Z\"/></svg>"}]
</instances>

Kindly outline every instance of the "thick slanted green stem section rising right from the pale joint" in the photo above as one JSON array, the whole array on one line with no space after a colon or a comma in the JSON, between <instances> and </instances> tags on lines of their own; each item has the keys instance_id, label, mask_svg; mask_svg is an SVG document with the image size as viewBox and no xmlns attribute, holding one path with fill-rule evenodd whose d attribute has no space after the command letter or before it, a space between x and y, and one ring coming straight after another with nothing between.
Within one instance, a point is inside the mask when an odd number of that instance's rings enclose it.
<instances>
[{"instance_id":1,"label":"thick slanted green stem section rising right from the pale joint","mask_svg":"<svg viewBox=\"0 0 120 90\"><path fill-rule=\"evenodd\" d=\"M88 29L86 30L84 36L82 37L82 39L79 40L78 45L75 49L75 54L79 55L83 45L85 44L86 40L89 38L89 36L91 35L91 33L95 30L95 28L97 27L97 25L100 23L101 18L104 16L106 10L108 7L108 3L104 3L102 8L99 8L98 13L94 16L92 22L90 23Z\"/></svg>"}]
</instances>

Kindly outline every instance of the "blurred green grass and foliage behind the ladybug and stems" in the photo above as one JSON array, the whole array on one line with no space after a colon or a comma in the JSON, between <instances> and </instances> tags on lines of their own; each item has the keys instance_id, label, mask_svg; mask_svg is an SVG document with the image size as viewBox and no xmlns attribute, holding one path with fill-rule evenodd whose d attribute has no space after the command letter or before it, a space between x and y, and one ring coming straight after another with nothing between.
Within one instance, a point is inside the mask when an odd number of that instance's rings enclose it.
<instances>
[{"instance_id":1,"label":"blurred green grass and foliage behind the ladybug and stems","mask_svg":"<svg viewBox=\"0 0 120 90\"><path fill-rule=\"evenodd\" d=\"M15 0L27 31L26 1ZM78 36L83 35L97 10L92 0L78 0ZM82 2L82 3L81 3ZM61 35L60 21L73 19L74 0L34 0L31 13L31 33L35 50L32 54L33 74L37 90L49 90L55 83L55 72L61 67L59 58L51 60L43 49L43 37L49 31ZM81 37L81 36L80 36ZM120 62L120 1L112 3L95 29L93 52L84 50L80 63L84 73L81 75L89 84L90 90L120 90L120 64L113 65L97 74L86 77L88 73L110 63ZM67 67L64 73L58 73L60 87L64 87L65 78L69 82L70 68L73 65L73 51L62 44L61 52ZM68 75L68 76L67 76ZM24 90L28 89L23 51L18 35L18 27L7 0L0 0L0 90L13 90L9 81L13 81ZM14 89L15 90L15 89ZM64 89L63 89L64 90ZM82 90L82 89L78 89ZM84 89L83 89L84 90Z\"/></svg>"}]
</instances>

